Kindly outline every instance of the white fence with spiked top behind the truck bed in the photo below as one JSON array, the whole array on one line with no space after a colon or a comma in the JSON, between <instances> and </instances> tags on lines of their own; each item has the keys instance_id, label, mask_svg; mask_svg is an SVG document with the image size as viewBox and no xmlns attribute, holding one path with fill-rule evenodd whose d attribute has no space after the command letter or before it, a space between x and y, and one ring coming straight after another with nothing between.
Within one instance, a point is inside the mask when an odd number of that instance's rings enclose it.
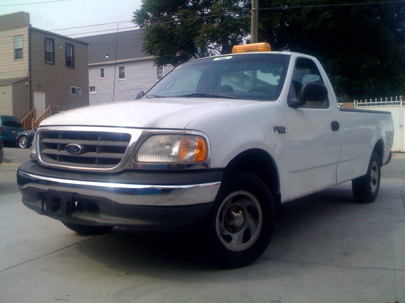
<instances>
[{"instance_id":1,"label":"white fence with spiked top behind the truck bed","mask_svg":"<svg viewBox=\"0 0 405 303\"><path fill-rule=\"evenodd\" d=\"M403 131L405 100L403 96L353 100L353 103L353 108L355 109L391 112L394 122L392 150L405 152L405 131Z\"/></svg>"}]
</instances>

